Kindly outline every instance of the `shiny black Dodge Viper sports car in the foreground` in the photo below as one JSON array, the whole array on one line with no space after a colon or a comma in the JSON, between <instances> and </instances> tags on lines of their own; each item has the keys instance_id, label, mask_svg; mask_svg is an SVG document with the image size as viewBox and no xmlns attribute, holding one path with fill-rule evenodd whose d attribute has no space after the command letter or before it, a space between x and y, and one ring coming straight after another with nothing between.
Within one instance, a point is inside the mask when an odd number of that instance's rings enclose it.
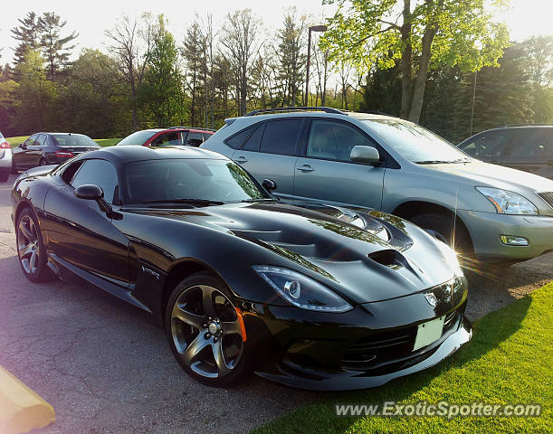
<instances>
[{"instance_id":1,"label":"shiny black Dodge Viper sports car in the foreground","mask_svg":"<svg viewBox=\"0 0 553 434\"><path fill-rule=\"evenodd\" d=\"M264 187L264 188L263 188ZM278 203L224 156L114 146L19 176L24 275L83 278L163 318L186 372L377 386L472 335L453 250L383 212Z\"/></svg>"}]
</instances>

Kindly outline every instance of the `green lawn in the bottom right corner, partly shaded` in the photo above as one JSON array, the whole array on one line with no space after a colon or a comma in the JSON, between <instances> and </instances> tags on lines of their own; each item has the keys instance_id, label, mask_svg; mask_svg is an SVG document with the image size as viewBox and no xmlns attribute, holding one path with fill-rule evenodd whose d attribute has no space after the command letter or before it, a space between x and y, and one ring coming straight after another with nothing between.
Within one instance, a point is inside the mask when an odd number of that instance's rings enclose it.
<instances>
[{"instance_id":1,"label":"green lawn in the bottom right corner, partly shaded","mask_svg":"<svg viewBox=\"0 0 553 434\"><path fill-rule=\"evenodd\" d=\"M269 433L480 433L553 432L553 282L474 325L470 344L422 373L374 390L325 394L314 403L272 420ZM335 405L418 401L450 404L541 404L534 418L337 417Z\"/></svg>"}]
</instances>

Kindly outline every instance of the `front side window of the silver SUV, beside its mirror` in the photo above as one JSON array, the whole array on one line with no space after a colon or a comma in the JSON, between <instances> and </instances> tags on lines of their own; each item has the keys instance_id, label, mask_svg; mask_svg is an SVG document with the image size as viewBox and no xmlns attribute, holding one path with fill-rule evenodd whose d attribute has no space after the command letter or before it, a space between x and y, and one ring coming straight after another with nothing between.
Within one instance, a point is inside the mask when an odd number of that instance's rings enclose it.
<instances>
[{"instance_id":1,"label":"front side window of the silver SUV, beside its mirror","mask_svg":"<svg viewBox=\"0 0 553 434\"><path fill-rule=\"evenodd\" d=\"M315 119L311 122L307 156L350 161L354 146L375 146L370 138L342 122Z\"/></svg>"}]
</instances>

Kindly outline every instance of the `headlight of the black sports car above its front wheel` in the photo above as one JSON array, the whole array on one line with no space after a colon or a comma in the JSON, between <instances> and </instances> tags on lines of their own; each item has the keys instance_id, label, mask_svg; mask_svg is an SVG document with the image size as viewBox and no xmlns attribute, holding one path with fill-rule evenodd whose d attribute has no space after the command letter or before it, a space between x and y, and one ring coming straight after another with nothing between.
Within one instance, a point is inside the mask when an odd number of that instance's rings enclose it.
<instances>
[{"instance_id":1,"label":"headlight of the black sports car above its front wheel","mask_svg":"<svg viewBox=\"0 0 553 434\"><path fill-rule=\"evenodd\" d=\"M352 308L329 288L296 271L262 265L254 265L252 268L295 307L318 312L346 312Z\"/></svg>"}]
</instances>

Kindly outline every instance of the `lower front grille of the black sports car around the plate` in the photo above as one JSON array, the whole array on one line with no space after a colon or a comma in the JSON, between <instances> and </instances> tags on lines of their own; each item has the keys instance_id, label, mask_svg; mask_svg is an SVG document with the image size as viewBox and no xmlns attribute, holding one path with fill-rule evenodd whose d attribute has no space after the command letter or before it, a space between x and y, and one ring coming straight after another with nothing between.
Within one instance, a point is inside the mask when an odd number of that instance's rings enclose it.
<instances>
[{"instance_id":1,"label":"lower front grille of the black sports car around the plate","mask_svg":"<svg viewBox=\"0 0 553 434\"><path fill-rule=\"evenodd\" d=\"M392 332L381 332L368 335L352 344L342 357L343 369L370 372L382 375L405 369L422 362L437 349L445 338L453 333L459 325L461 311L453 310L446 314L443 322L442 337L433 344L413 351L417 327L406 327Z\"/></svg>"}]
</instances>

